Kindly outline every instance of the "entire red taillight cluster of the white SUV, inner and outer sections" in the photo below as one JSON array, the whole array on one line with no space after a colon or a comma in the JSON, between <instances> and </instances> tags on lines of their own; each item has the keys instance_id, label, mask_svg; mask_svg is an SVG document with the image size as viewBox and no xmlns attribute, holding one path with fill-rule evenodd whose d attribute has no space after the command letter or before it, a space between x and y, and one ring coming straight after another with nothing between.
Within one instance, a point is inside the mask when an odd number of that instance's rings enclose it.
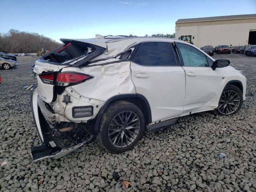
<instances>
[{"instance_id":1,"label":"entire red taillight cluster of the white SUV, inner and outer sections","mask_svg":"<svg viewBox=\"0 0 256 192\"><path fill-rule=\"evenodd\" d=\"M76 72L47 72L39 74L38 76L41 78L42 82L58 86L79 84L92 78L92 76Z\"/></svg>"}]
</instances>

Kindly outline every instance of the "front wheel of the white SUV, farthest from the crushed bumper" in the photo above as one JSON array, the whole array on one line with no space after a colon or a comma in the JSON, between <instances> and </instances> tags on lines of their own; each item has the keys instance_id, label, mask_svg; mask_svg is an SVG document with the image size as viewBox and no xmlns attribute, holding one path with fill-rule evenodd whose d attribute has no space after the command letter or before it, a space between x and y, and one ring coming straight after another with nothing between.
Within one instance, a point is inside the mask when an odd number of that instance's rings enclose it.
<instances>
[{"instance_id":1,"label":"front wheel of the white SUV, farthest from the crushed bumper","mask_svg":"<svg viewBox=\"0 0 256 192\"><path fill-rule=\"evenodd\" d=\"M233 115L240 110L242 104L243 94L241 90L237 86L228 85L223 90L218 108L216 108L213 113L216 115Z\"/></svg>"}]
</instances>

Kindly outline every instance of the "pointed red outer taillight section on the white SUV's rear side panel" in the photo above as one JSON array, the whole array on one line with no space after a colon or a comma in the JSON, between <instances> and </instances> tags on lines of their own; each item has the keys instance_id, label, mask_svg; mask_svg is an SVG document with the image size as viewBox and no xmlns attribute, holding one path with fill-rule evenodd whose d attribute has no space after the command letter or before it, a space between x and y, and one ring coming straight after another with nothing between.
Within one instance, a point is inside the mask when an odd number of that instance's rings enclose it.
<instances>
[{"instance_id":1,"label":"pointed red outer taillight section on the white SUV's rear side panel","mask_svg":"<svg viewBox=\"0 0 256 192\"><path fill-rule=\"evenodd\" d=\"M74 73L74 72L58 73L56 78L56 85L68 86L70 84L78 84L90 78L92 78L92 76L82 74L82 73Z\"/></svg>"}]
</instances>

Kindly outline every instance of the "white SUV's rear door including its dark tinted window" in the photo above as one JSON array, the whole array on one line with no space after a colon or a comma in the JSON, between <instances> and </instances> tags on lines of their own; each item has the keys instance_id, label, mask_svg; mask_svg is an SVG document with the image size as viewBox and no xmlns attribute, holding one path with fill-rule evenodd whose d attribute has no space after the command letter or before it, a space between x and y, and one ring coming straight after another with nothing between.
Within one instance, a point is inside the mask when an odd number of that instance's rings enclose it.
<instances>
[{"instance_id":1,"label":"white SUV's rear door including its dark tinted window","mask_svg":"<svg viewBox=\"0 0 256 192\"><path fill-rule=\"evenodd\" d=\"M183 112L185 74L170 42L143 42L131 62L136 93L148 100L152 122Z\"/></svg>"}]
</instances>

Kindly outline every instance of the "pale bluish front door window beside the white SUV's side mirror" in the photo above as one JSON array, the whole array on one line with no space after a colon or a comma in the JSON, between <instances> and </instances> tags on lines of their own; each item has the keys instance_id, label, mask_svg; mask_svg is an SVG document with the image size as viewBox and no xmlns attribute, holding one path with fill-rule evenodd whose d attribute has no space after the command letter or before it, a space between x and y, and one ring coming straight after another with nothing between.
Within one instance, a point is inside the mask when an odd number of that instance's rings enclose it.
<instances>
[{"instance_id":1,"label":"pale bluish front door window beside the white SUV's side mirror","mask_svg":"<svg viewBox=\"0 0 256 192\"><path fill-rule=\"evenodd\" d=\"M196 48L183 44L178 43L180 53L183 59L184 66L191 66L191 67L207 67L208 62L206 56L197 50Z\"/></svg>"}]
</instances>

